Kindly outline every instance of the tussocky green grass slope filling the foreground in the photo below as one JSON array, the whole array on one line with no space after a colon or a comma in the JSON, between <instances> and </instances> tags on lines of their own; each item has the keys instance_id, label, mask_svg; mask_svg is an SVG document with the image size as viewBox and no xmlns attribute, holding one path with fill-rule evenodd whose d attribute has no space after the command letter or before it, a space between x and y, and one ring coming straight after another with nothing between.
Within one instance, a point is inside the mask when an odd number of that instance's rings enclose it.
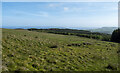
<instances>
[{"instance_id":1,"label":"tussocky green grass slope filling the foreground","mask_svg":"<svg viewBox=\"0 0 120 73\"><path fill-rule=\"evenodd\" d=\"M2 39L3 70L104 71L117 68L117 43L13 29L3 29ZM83 45L86 42L91 45ZM74 43L81 46L67 46ZM106 68L109 65L112 69Z\"/></svg>"}]
</instances>

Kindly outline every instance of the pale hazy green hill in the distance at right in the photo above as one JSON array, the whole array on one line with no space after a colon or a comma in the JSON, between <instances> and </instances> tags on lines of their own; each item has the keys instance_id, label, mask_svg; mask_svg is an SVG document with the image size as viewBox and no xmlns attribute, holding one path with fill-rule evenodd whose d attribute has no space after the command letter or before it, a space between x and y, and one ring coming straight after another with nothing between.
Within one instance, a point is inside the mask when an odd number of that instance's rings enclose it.
<instances>
[{"instance_id":1,"label":"pale hazy green hill in the distance at right","mask_svg":"<svg viewBox=\"0 0 120 73\"><path fill-rule=\"evenodd\" d=\"M98 29L91 29L91 32L99 32L99 33L106 33L106 34L112 34L112 32L117 29L117 27L102 27Z\"/></svg>"}]
</instances>

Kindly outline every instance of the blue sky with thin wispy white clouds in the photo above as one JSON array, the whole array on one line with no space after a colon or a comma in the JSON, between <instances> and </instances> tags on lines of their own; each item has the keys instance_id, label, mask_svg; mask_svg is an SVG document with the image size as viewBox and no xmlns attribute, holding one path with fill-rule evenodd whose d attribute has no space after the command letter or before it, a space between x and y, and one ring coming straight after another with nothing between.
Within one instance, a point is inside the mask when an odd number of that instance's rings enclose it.
<instances>
[{"instance_id":1,"label":"blue sky with thin wispy white clouds","mask_svg":"<svg viewBox=\"0 0 120 73\"><path fill-rule=\"evenodd\" d=\"M2 26L117 27L117 2L3 2Z\"/></svg>"}]
</instances>

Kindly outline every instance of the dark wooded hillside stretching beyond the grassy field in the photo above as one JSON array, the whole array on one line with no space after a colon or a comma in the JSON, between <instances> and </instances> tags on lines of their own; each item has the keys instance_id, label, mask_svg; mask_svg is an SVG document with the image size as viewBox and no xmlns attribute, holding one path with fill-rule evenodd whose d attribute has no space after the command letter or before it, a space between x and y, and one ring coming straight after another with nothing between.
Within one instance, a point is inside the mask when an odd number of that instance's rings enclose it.
<instances>
[{"instance_id":1,"label":"dark wooded hillside stretching beyond the grassy field","mask_svg":"<svg viewBox=\"0 0 120 73\"><path fill-rule=\"evenodd\" d=\"M28 30L29 31L36 31L36 32L62 34L62 35L74 35L74 36L92 38L92 39L97 39L97 40L102 40L102 41L110 41L110 39L111 39L110 34L90 32L88 30L60 29L60 28L50 28L50 29L30 28Z\"/></svg>"}]
</instances>

